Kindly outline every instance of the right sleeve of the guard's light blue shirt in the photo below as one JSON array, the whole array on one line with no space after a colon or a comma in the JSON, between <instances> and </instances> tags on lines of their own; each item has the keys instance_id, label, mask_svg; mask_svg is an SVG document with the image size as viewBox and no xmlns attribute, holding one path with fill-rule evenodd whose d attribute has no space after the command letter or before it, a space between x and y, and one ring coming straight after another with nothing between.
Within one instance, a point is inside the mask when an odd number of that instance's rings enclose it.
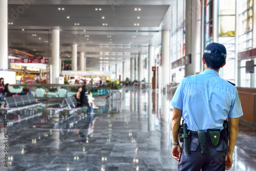
<instances>
[{"instance_id":1,"label":"right sleeve of the guard's light blue shirt","mask_svg":"<svg viewBox=\"0 0 256 171\"><path fill-rule=\"evenodd\" d=\"M238 91L236 92L236 95L234 95L234 100L231 104L231 108L228 113L229 118L239 118L243 116L243 110L241 106L240 96Z\"/></svg>"}]
</instances>

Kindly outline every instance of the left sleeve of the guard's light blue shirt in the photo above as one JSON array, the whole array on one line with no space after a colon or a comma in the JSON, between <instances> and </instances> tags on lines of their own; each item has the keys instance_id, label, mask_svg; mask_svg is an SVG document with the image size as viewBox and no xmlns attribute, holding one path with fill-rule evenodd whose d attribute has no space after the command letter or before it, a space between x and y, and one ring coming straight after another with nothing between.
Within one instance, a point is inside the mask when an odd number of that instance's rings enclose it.
<instances>
[{"instance_id":1,"label":"left sleeve of the guard's light blue shirt","mask_svg":"<svg viewBox=\"0 0 256 171\"><path fill-rule=\"evenodd\" d=\"M184 99L183 81L184 81L184 79L180 82L180 84L177 87L177 90L174 94L174 97L173 97L172 101L170 102L172 104L172 106L174 106L174 108L177 108L179 110L183 109L183 99Z\"/></svg>"}]
</instances>

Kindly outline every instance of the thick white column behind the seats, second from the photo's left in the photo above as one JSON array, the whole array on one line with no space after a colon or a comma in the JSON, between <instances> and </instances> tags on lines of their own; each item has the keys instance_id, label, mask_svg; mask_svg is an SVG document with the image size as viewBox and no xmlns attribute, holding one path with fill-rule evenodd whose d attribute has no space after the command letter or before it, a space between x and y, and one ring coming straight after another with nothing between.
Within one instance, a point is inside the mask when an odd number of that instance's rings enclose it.
<instances>
[{"instance_id":1,"label":"thick white column behind the seats, second from the photo's left","mask_svg":"<svg viewBox=\"0 0 256 171\"><path fill-rule=\"evenodd\" d=\"M52 30L52 83L58 83L59 77L59 30Z\"/></svg>"}]
</instances>

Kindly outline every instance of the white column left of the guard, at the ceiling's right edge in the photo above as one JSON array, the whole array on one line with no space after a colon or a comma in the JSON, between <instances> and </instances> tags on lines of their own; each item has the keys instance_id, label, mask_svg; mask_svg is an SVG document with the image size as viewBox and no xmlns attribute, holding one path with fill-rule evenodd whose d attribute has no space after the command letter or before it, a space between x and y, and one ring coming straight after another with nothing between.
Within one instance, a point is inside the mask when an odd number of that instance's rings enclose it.
<instances>
[{"instance_id":1,"label":"white column left of the guard, at the ceiling's right edge","mask_svg":"<svg viewBox=\"0 0 256 171\"><path fill-rule=\"evenodd\" d=\"M170 82L170 31L162 30L161 89Z\"/></svg>"}]
</instances>

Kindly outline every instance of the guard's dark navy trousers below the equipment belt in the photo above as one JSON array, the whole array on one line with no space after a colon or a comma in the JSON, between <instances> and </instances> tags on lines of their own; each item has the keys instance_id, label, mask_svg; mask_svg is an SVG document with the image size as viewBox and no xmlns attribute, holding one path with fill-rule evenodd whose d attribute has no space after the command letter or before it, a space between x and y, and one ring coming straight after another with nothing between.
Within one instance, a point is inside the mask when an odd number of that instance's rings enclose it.
<instances>
[{"instance_id":1,"label":"guard's dark navy trousers below the equipment belt","mask_svg":"<svg viewBox=\"0 0 256 171\"><path fill-rule=\"evenodd\" d=\"M181 157L177 170L184 171L225 171L226 142L221 139L217 147L211 147L206 140L207 154L201 154L198 139L191 138L190 153L184 153L184 145L181 148Z\"/></svg>"}]
</instances>

